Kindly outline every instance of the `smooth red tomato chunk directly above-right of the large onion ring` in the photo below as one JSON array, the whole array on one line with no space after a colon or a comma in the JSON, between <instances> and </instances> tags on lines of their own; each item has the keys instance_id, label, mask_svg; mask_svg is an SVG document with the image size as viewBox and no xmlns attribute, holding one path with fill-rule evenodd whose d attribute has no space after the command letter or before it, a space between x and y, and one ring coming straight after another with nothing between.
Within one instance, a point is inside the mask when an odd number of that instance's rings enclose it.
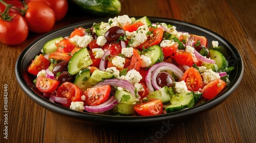
<instances>
[{"instance_id":1,"label":"smooth red tomato chunk directly above-right of the large onion ring","mask_svg":"<svg viewBox=\"0 0 256 143\"><path fill-rule=\"evenodd\" d=\"M197 57L193 57L193 55L185 51L175 52L174 60L179 65L193 66L194 64L197 64L198 66L200 66L201 64L201 61Z\"/></svg>"}]
</instances>

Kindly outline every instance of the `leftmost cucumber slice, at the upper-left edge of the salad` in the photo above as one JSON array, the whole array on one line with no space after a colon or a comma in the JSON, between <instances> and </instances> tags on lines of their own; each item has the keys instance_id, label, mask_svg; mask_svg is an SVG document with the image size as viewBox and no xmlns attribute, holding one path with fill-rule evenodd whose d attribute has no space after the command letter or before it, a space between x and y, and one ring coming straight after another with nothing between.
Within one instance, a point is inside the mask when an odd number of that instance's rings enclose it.
<instances>
[{"instance_id":1,"label":"leftmost cucumber slice, at the upper-left edge of the salad","mask_svg":"<svg viewBox=\"0 0 256 143\"><path fill-rule=\"evenodd\" d=\"M44 55L55 52L57 50L57 46L55 45L56 41L60 41L62 39L63 37L58 37L46 42L45 45L42 47L42 51L44 52Z\"/></svg>"}]
</instances>

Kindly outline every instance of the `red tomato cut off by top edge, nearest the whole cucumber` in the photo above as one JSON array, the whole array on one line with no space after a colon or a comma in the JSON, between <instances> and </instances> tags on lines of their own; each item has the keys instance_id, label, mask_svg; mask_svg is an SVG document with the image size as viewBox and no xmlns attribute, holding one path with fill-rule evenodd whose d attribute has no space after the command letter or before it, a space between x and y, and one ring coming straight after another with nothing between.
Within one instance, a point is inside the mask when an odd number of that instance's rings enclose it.
<instances>
[{"instance_id":1,"label":"red tomato cut off by top edge, nearest the whole cucumber","mask_svg":"<svg viewBox=\"0 0 256 143\"><path fill-rule=\"evenodd\" d=\"M52 8L55 14L55 21L59 21L68 12L68 1L67 0L26 0L25 2L28 4L31 1L40 1L44 2L47 6Z\"/></svg>"}]
</instances>

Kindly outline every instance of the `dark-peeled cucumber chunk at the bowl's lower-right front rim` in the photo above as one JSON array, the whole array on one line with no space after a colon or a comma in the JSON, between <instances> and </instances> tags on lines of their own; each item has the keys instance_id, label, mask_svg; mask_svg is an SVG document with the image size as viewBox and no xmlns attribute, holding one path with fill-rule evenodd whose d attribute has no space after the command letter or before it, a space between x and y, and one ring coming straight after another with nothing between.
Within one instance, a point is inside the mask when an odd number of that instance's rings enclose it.
<instances>
[{"instance_id":1,"label":"dark-peeled cucumber chunk at the bowl's lower-right front rim","mask_svg":"<svg viewBox=\"0 0 256 143\"><path fill-rule=\"evenodd\" d=\"M171 105L165 108L167 113L180 111L184 108L191 108L195 105L194 92L182 92L175 94L170 99Z\"/></svg>"}]
</instances>

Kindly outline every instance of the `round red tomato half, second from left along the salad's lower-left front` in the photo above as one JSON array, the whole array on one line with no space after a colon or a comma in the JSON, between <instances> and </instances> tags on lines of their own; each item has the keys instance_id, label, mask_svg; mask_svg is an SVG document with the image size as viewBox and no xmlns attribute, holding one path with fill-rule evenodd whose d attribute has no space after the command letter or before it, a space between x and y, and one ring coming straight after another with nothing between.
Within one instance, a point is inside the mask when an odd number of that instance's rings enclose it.
<instances>
[{"instance_id":1,"label":"round red tomato half, second from left along the salad's lower-left front","mask_svg":"<svg viewBox=\"0 0 256 143\"><path fill-rule=\"evenodd\" d=\"M56 91L56 96L68 98L72 102L82 101L82 90L77 85L71 82L64 82L58 87ZM69 107L70 103L64 106Z\"/></svg>"}]
</instances>

